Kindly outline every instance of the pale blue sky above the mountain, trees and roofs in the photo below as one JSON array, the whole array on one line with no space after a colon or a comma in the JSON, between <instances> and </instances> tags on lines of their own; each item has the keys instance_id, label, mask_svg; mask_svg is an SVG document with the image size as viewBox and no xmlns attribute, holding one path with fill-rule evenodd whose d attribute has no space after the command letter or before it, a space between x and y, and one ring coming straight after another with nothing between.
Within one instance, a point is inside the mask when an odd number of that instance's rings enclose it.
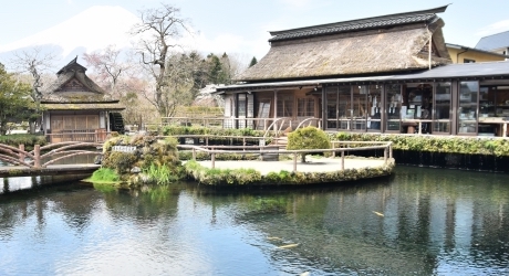
<instances>
[{"instance_id":1,"label":"pale blue sky above the mountain, trees and roofs","mask_svg":"<svg viewBox=\"0 0 509 276\"><path fill-rule=\"evenodd\" d=\"M159 0L0 0L0 45L56 25L93 6L121 6L137 14ZM475 46L485 35L509 30L508 0L175 0L193 26L215 49L261 59L268 31L384 15L450 3L439 14L446 42ZM222 44L221 44L222 43ZM208 51L208 50L204 50ZM219 50L221 51L221 50Z\"/></svg>"}]
</instances>

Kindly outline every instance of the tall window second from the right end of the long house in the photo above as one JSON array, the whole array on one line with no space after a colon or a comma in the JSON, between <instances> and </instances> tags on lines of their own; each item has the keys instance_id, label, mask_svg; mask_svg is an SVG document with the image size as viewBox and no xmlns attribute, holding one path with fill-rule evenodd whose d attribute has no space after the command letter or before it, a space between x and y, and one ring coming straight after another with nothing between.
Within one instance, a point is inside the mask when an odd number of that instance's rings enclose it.
<instances>
[{"instance_id":1,"label":"tall window second from the right end of the long house","mask_svg":"<svg viewBox=\"0 0 509 276\"><path fill-rule=\"evenodd\" d=\"M478 82L460 82L458 95L458 134L477 132Z\"/></svg>"}]
</instances>

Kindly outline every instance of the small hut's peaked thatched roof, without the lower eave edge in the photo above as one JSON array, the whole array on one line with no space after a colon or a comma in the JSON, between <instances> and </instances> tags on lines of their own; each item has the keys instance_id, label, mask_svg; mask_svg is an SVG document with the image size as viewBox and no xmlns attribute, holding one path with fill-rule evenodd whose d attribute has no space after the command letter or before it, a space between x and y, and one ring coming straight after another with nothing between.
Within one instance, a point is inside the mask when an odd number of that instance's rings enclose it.
<instances>
[{"instance_id":1,"label":"small hut's peaked thatched roof, without the lower eave edge","mask_svg":"<svg viewBox=\"0 0 509 276\"><path fill-rule=\"evenodd\" d=\"M77 56L76 56L77 59ZM90 79L86 68L72 60L56 73L56 81L44 92L42 103L97 103L114 100Z\"/></svg>"}]
</instances>

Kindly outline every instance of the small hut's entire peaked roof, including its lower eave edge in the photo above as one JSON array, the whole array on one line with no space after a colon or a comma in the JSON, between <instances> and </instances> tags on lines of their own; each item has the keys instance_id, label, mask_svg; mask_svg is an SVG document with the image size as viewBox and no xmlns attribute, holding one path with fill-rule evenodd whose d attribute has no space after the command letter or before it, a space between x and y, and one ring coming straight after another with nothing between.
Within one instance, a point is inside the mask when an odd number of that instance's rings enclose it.
<instances>
[{"instance_id":1,"label":"small hut's entire peaked roof, including its lower eave edge","mask_svg":"<svg viewBox=\"0 0 509 276\"><path fill-rule=\"evenodd\" d=\"M56 73L56 81L42 94L41 103L53 110L122 110L118 99L86 76L86 68L76 62L77 56Z\"/></svg>"}]
</instances>

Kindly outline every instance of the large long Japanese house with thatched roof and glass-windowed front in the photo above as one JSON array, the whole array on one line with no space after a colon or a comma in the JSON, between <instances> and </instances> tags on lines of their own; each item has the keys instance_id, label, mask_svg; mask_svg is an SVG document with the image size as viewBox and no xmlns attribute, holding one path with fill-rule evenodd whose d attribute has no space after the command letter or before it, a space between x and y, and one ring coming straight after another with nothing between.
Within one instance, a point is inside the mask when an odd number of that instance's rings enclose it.
<instances>
[{"instance_id":1,"label":"large long Japanese house with thatched roof and glass-windowed front","mask_svg":"<svg viewBox=\"0 0 509 276\"><path fill-rule=\"evenodd\" d=\"M270 32L269 53L217 88L226 127L507 136L509 63L451 64L446 9Z\"/></svg>"}]
</instances>

